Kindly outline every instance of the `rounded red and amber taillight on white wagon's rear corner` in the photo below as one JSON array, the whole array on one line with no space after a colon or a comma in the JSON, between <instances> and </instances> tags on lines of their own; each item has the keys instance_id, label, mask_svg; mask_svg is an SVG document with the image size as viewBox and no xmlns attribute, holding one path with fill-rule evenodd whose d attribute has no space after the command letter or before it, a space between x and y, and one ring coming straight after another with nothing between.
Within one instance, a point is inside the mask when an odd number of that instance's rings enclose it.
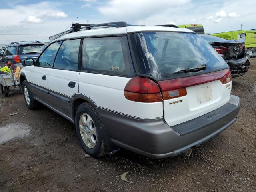
<instances>
[{"instance_id":1,"label":"rounded red and amber taillight on white wagon's rear corner","mask_svg":"<svg viewBox=\"0 0 256 192\"><path fill-rule=\"evenodd\" d=\"M124 88L124 96L128 100L136 102L152 103L162 101L158 85L148 78L141 77L130 79Z\"/></svg>"}]
</instances>

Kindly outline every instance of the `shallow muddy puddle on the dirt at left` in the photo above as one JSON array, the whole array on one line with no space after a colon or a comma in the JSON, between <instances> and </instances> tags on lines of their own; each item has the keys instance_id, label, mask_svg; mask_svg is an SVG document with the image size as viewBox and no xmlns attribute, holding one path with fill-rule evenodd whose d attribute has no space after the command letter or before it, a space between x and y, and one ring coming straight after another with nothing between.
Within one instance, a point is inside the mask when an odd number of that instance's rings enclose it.
<instances>
[{"instance_id":1,"label":"shallow muddy puddle on the dirt at left","mask_svg":"<svg viewBox=\"0 0 256 192\"><path fill-rule=\"evenodd\" d=\"M9 124L0 127L0 144L3 144L14 138L23 137L29 133L28 126Z\"/></svg>"}]
</instances>

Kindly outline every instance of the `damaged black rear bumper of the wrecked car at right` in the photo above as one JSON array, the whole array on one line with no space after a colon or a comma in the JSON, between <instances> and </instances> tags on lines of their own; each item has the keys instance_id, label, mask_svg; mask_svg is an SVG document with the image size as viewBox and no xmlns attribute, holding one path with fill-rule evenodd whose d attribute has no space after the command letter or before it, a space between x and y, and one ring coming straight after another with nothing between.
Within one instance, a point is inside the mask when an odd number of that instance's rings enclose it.
<instances>
[{"instance_id":1,"label":"damaged black rear bumper of the wrecked car at right","mask_svg":"<svg viewBox=\"0 0 256 192\"><path fill-rule=\"evenodd\" d=\"M237 60L225 60L230 67L232 77L242 76L246 74L250 66L248 57Z\"/></svg>"}]
</instances>

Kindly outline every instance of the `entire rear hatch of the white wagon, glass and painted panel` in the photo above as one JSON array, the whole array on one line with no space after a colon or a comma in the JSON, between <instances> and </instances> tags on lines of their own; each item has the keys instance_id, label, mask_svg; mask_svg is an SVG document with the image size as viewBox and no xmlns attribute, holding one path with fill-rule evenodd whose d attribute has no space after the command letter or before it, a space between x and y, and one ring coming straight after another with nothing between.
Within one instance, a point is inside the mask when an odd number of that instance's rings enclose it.
<instances>
[{"instance_id":1,"label":"entire rear hatch of the white wagon, glass and painted panel","mask_svg":"<svg viewBox=\"0 0 256 192\"><path fill-rule=\"evenodd\" d=\"M138 76L158 84L169 126L209 113L230 99L228 65L197 34L137 32L130 38Z\"/></svg>"}]
</instances>

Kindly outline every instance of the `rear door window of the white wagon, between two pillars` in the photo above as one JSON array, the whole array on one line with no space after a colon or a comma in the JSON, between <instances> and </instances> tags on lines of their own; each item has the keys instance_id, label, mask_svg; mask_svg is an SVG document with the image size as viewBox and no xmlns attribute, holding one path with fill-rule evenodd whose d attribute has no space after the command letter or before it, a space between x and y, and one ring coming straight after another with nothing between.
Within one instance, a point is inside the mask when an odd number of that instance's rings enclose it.
<instances>
[{"instance_id":1,"label":"rear door window of the white wagon, between two pillars","mask_svg":"<svg viewBox=\"0 0 256 192\"><path fill-rule=\"evenodd\" d=\"M63 41L57 53L53 68L78 70L80 39Z\"/></svg>"}]
</instances>

